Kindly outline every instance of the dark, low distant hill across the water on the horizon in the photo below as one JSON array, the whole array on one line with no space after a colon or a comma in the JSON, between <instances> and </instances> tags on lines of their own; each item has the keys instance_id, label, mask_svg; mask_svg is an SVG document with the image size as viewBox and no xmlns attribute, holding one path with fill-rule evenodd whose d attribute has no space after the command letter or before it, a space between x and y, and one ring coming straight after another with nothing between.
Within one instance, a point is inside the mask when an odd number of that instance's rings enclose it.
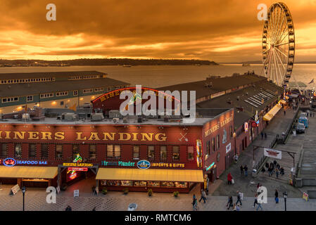
<instances>
[{"instance_id":1,"label":"dark, low distant hill across the water on the horizon","mask_svg":"<svg viewBox=\"0 0 316 225\"><path fill-rule=\"evenodd\" d=\"M2 60L4 66L69 66L69 65L218 65L209 60L80 58L75 60Z\"/></svg>"}]
</instances>

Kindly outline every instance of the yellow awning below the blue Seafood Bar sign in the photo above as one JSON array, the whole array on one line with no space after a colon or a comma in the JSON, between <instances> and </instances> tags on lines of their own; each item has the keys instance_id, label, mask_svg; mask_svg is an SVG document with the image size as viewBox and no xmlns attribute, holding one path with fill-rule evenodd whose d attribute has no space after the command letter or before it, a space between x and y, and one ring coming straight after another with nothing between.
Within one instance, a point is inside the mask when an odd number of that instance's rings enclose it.
<instances>
[{"instance_id":1,"label":"yellow awning below the blue Seafood Bar sign","mask_svg":"<svg viewBox=\"0 0 316 225\"><path fill-rule=\"evenodd\" d=\"M53 179L58 167L6 167L0 166L0 177L3 178L44 178Z\"/></svg>"}]
</instances>

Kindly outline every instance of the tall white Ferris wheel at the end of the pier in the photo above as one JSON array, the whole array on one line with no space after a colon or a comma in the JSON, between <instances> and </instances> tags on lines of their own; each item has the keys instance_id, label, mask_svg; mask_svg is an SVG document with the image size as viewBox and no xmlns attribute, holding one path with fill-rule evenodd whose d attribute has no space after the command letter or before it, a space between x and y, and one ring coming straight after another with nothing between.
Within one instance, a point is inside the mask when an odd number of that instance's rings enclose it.
<instances>
[{"instance_id":1,"label":"tall white Ferris wheel at the end of the pier","mask_svg":"<svg viewBox=\"0 0 316 225\"><path fill-rule=\"evenodd\" d=\"M295 55L294 26L289 8L278 2L267 11L263 25L263 70L278 86L287 86Z\"/></svg>"}]
</instances>

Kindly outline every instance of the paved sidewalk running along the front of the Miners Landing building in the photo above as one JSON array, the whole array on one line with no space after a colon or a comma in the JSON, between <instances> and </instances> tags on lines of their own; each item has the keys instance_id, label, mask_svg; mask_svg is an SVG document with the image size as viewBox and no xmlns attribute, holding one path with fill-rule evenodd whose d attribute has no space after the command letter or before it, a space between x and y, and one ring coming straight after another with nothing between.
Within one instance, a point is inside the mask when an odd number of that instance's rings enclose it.
<instances>
[{"instance_id":1,"label":"paved sidewalk running along the front of the Miners Landing building","mask_svg":"<svg viewBox=\"0 0 316 225\"><path fill-rule=\"evenodd\" d=\"M9 187L0 191L0 211L21 211L23 208L23 196L21 191L10 196ZM280 194L281 195L281 194ZM200 195L197 196L200 198ZM234 203L236 195L233 196ZM180 194L178 198L172 193L153 193L148 197L147 193L128 193L111 191L107 195L92 195L80 193L80 197L72 197L61 193L57 195L56 203L46 203L46 192L37 189L28 189L25 193L26 211L64 211L70 205L74 211L90 211L96 207L97 211L126 211L129 203L137 203L137 211L191 211L192 194ZM253 198L245 197L242 201L241 211L254 211ZM199 211L227 211L226 196L208 196L206 203L198 203ZM232 210L232 208L231 208ZM263 204L264 211L284 211L284 199L280 198L279 204L274 203L273 198L268 198L267 204ZM315 211L316 200L305 202L302 198L288 198L287 210L291 211Z\"/></svg>"}]
</instances>

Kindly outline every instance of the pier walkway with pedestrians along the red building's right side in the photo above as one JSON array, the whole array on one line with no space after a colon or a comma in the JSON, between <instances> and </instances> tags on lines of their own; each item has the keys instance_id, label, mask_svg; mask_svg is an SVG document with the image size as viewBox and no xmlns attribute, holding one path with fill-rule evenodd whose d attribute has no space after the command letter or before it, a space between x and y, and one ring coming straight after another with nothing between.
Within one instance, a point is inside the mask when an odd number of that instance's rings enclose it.
<instances>
[{"instance_id":1,"label":"pier walkway with pedestrians along the red building's right side","mask_svg":"<svg viewBox=\"0 0 316 225\"><path fill-rule=\"evenodd\" d=\"M261 139L259 135L255 141L253 141L247 148L239 155L239 160L237 164L233 164L229 167L221 176L220 179L223 181L219 188L213 193L213 195L236 195L236 191L241 191L244 195L253 197L256 191L256 185L252 185L251 182L258 184L261 183L263 186L267 187L268 197L274 197L275 189L278 189L279 193L287 191L289 198L301 198L301 191L290 186L287 182L280 182L277 179L270 179L265 173L264 175L258 174L256 178L251 176L251 168L253 165L253 146L263 146L269 147L274 136L281 135L283 131L286 131L289 124L292 122L295 111L293 109L286 110L286 115L284 115L283 110L279 110L279 113L274 116L270 124L263 130L267 133L267 139ZM255 161L257 162L263 157L263 148L258 148L255 150ZM248 166L248 176L241 176L240 166ZM231 173L235 184L227 185L227 174ZM285 172L284 176L288 176L289 171Z\"/></svg>"}]
</instances>

